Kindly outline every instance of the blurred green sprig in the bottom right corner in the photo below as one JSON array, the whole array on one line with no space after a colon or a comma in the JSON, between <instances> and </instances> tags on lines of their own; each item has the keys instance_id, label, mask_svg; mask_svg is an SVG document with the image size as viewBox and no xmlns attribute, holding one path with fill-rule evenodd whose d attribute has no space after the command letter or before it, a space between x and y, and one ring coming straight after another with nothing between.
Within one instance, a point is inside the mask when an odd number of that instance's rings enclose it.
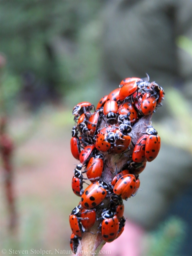
<instances>
[{"instance_id":1,"label":"blurred green sprig in the bottom right corner","mask_svg":"<svg viewBox=\"0 0 192 256\"><path fill-rule=\"evenodd\" d=\"M185 238L185 222L178 217L170 217L161 224L158 230L149 237L150 248L148 256L173 256L178 255L182 242Z\"/></svg>"}]
</instances>

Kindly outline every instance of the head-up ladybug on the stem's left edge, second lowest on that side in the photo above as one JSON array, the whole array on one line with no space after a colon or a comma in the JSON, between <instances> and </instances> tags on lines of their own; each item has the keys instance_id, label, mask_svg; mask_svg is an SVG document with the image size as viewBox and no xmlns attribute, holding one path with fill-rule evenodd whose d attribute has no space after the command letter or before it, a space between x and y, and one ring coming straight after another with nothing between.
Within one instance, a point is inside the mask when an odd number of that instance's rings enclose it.
<instances>
[{"instance_id":1,"label":"head-up ladybug on the stem's left edge, second lowest on that side","mask_svg":"<svg viewBox=\"0 0 192 256\"><path fill-rule=\"evenodd\" d=\"M84 227L82 226L82 223L80 222L79 218L79 208L78 206L74 208L69 216L69 223L71 230L74 235L78 237L82 237L82 233L85 231Z\"/></svg>"}]
</instances>

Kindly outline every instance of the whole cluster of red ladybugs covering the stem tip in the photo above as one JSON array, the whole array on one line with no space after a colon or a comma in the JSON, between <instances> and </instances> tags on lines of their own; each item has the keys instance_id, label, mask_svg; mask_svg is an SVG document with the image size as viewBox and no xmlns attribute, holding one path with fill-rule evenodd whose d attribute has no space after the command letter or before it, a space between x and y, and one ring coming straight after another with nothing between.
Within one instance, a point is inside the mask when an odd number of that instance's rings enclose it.
<instances>
[{"instance_id":1,"label":"whole cluster of red ladybugs covering the stem tip","mask_svg":"<svg viewBox=\"0 0 192 256\"><path fill-rule=\"evenodd\" d=\"M138 191L138 176L146 162L151 162L158 155L160 137L152 126L147 126L146 133L134 145L132 160L123 170L116 170L116 176L110 183L102 181L101 177L104 155L127 152L133 144L132 126L142 116L152 114L157 106L161 106L163 96L162 87L155 82L150 83L147 75L142 79L122 80L119 88L98 102L96 110L90 102L81 102L74 107L71 152L80 163L74 170L72 190L81 197L81 201L70 214L72 250L77 249L83 232L88 232L96 220L102 220L98 232L106 242L112 242L122 234L125 225L122 199L127 200ZM101 123L104 128L99 128ZM87 179L92 183L83 190ZM104 208L105 198L110 198L107 208Z\"/></svg>"}]
</instances>

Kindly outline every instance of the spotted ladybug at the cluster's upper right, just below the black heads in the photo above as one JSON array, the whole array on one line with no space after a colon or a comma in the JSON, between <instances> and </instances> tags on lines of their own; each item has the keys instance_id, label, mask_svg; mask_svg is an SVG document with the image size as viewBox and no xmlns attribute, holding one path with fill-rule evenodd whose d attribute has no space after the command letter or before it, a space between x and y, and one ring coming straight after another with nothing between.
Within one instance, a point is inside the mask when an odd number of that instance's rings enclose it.
<instances>
[{"instance_id":1,"label":"spotted ladybug at the cluster's upper right, just below the black heads","mask_svg":"<svg viewBox=\"0 0 192 256\"><path fill-rule=\"evenodd\" d=\"M141 106L140 106L140 114L148 115L151 114L156 107L156 98L151 96L150 93L145 93L142 98Z\"/></svg>"}]
</instances>

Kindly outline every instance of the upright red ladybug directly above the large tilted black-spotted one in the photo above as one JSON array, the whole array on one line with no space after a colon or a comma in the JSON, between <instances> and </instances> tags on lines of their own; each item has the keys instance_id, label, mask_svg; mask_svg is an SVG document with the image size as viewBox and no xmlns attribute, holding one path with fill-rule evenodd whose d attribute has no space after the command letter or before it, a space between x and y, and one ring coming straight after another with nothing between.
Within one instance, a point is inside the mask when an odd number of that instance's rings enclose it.
<instances>
[{"instance_id":1,"label":"upright red ladybug directly above the large tilted black-spotted one","mask_svg":"<svg viewBox=\"0 0 192 256\"><path fill-rule=\"evenodd\" d=\"M96 155L90 158L87 166L86 166L86 174L87 178L94 182L101 177L103 171L103 156L101 154Z\"/></svg>"}]
</instances>

